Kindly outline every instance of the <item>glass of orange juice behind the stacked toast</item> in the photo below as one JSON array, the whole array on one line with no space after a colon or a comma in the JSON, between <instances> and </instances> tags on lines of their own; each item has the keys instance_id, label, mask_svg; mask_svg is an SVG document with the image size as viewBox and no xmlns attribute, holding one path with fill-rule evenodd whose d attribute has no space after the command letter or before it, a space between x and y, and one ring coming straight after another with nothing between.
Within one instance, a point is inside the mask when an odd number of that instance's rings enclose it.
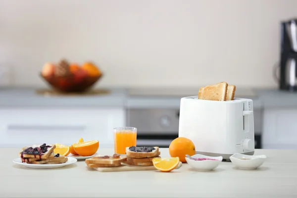
<instances>
[{"instance_id":1,"label":"glass of orange juice behind the stacked toast","mask_svg":"<svg viewBox=\"0 0 297 198\"><path fill-rule=\"evenodd\" d=\"M137 128L117 127L113 128L114 152L126 154L126 147L136 147Z\"/></svg>"}]
</instances>

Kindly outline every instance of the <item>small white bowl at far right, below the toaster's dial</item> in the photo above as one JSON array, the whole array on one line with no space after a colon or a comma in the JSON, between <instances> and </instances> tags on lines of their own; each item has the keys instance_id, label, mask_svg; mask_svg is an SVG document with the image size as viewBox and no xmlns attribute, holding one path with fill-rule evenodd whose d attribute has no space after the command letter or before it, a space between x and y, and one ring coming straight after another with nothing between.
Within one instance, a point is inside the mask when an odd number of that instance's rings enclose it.
<instances>
[{"instance_id":1,"label":"small white bowl at far right, below the toaster's dial","mask_svg":"<svg viewBox=\"0 0 297 198\"><path fill-rule=\"evenodd\" d=\"M266 155L245 155L235 153L230 156L231 162L241 169L256 169L263 164L266 159Z\"/></svg>"}]
</instances>

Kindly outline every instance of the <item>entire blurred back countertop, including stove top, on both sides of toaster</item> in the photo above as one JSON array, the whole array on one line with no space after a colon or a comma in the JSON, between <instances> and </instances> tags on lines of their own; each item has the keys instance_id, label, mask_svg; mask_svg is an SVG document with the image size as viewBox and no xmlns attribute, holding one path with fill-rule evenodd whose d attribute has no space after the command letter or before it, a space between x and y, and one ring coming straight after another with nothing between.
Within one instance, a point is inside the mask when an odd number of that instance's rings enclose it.
<instances>
[{"instance_id":1,"label":"entire blurred back countertop, including stove top, on both sides of toaster","mask_svg":"<svg viewBox=\"0 0 297 198\"><path fill-rule=\"evenodd\" d=\"M87 96L51 96L36 94L34 88L0 89L3 107L123 107L123 108L179 108L180 99L197 95L197 89L167 88L106 88L108 94ZM297 107L297 92L277 89L240 89L236 98L252 99L254 108Z\"/></svg>"}]
</instances>

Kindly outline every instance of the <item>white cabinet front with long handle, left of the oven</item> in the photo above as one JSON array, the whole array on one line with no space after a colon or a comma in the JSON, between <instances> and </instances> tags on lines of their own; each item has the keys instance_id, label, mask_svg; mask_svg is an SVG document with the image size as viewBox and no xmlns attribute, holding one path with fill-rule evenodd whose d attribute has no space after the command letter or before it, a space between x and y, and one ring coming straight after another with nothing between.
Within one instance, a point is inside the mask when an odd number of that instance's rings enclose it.
<instances>
[{"instance_id":1,"label":"white cabinet front with long handle, left of the oven","mask_svg":"<svg viewBox=\"0 0 297 198\"><path fill-rule=\"evenodd\" d=\"M113 146L113 127L125 126L124 108L0 108L0 147L71 145L79 138Z\"/></svg>"}]
</instances>

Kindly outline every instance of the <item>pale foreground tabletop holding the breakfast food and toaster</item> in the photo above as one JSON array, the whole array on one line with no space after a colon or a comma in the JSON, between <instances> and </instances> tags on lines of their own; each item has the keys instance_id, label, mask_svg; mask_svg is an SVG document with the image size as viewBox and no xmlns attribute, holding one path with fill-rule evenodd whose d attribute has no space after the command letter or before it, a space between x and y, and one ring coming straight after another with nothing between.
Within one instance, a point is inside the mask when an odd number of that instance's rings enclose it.
<instances>
[{"instance_id":1,"label":"pale foreground tabletop holding the breakfast food and toaster","mask_svg":"<svg viewBox=\"0 0 297 198\"><path fill-rule=\"evenodd\" d=\"M199 172L184 163L159 171L99 172L84 161L56 169L31 169L12 160L19 148L0 148L0 198L293 198L297 197L297 150L259 149L267 159L257 170L240 170L222 162ZM99 154L113 149L99 148ZM169 156L161 148L161 156Z\"/></svg>"}]
</instances>

